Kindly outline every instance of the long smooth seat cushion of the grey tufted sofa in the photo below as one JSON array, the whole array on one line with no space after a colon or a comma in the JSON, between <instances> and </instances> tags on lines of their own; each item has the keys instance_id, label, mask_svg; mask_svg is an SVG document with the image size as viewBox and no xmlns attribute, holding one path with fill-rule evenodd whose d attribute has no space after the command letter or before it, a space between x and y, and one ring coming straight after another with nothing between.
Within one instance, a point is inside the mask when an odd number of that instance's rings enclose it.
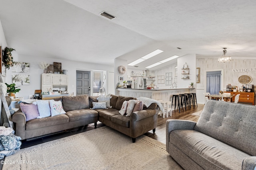
<instances>
[{"instance_id":1,"label":"long smooth seat cushion of the grey tufted sofa","mask_svg":"<svg viewBox=\"0 0 256 170\"><path fill-rule=\"evenodd\" d=\"M194 130L174 130L169 136L169 148L182 150L204 169L241 169L244 158L250 156L217 139Z\"/></svg>"}]
</instances>

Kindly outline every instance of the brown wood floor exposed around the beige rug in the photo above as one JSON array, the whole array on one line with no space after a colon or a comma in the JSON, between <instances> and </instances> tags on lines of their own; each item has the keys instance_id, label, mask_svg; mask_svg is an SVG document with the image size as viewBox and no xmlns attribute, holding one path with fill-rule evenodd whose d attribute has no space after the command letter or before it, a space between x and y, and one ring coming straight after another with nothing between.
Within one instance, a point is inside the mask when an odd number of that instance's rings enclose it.
<instances>
[{"instance_id":1,"label":"brown wood floor exposed around the beige rug","mask_svg":"<svg viewBox=\"0 0 256 170\"><path fill-rule=\"evenodd\" d=\"M199 116L191 115L191 113L199 111L203 108L204 108L204 104L198 104L198 106L196 106L194 108L192 107L191 109L187 109L186 111L184 109L184 111L180 111L180 113L178 110L172 111L172 117L169 116L168 118L162 118L162 116L158 115L158 126L156 128L156 132L153 133L152 131L149 131L148 133L145 133L144 135L151 137L153 139L156 139L157 141L160 141L162 143L166 143L165 122L167 119L183 119L183 120L198 121ZM103 127L103 126L105 126L105 125L100 122L97 123L97 127ZM83 126L83 127L70 129L67 131L62 131L60 133L55 133L52 135L46 135L43 137L29 139L27 141L22 141L21 149L26 148L26 147L31 147L34 145L38 145L40 143L53 141L55 139L60 139L60 138L74 135L77 133L90 131L92 129L94 129L94 123L91 123L91 124ZM131 141L132 141L132 139L131 139Z\"/></svg>"}]
</instances>

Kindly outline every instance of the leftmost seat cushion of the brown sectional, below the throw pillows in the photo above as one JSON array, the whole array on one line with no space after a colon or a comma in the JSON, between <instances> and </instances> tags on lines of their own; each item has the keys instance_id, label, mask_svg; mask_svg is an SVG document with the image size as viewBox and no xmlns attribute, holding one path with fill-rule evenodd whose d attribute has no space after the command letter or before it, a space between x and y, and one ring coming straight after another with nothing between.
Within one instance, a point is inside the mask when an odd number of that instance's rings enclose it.
<instances>
[{"instance_id":1,"label":"leftmost seat cushion of the brown sectional, below the throw pillows","mask_svg":"<svg viewBox=\"0 0 256 170\"><path fill-rule=\"evenodd\" d=\"M66 114L56 115L54 117L44 117L42 119L32 119L26 122L26 130L38 129L41 127L59 125L68 123L68 116Z\"/></svg>"}]
</instances>

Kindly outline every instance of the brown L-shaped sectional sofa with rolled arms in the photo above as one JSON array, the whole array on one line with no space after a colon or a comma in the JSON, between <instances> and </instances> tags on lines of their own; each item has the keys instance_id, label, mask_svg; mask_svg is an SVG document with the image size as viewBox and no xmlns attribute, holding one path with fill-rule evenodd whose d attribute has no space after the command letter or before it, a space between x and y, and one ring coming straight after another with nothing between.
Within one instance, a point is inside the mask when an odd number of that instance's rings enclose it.
<instances>
[{"instance_id":1,"label":"brown L-shaped sectional sofa with rolled arms","mask_svg":"<svg viewBox=\"0 0 256 170\"><path fill-rule=\"evenodd\" d=\"M15 125L15 134L22 140L38 137L74 127L94 123L97 121L116 129L130 137L135 142L136 137L157 127L157 104L153 103L148 108L144 107L141 111L135 111L126 117L120 115L119 110L125 100L134 99L132 97L112 95L108 109L90 109L92 102L98 102L97 96L64 96L55 100L62 100L63 109L66 114L41 119L26 121L26 115L18 110L12 115Z\"/></svg>"}]
</instances>

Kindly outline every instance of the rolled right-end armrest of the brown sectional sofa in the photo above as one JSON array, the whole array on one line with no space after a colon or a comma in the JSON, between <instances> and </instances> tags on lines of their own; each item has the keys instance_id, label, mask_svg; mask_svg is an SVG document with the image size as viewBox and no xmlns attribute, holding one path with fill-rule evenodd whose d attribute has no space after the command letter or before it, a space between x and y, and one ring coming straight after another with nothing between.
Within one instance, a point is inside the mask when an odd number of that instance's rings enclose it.
<instances>
[{"instance_id":1,"label":"rolled right-end armrest of the brown sectional sofa","mask_svg":"<svg viewBox=\"0 0 256 170\"><path fill-rule=\"evenodd\" d=\"M146 117L154 116L158 113L157 109L146 109L140 111L134 111L130 115L130 121L139 121L145 119Z\"/></svg>"}]
</instances>

